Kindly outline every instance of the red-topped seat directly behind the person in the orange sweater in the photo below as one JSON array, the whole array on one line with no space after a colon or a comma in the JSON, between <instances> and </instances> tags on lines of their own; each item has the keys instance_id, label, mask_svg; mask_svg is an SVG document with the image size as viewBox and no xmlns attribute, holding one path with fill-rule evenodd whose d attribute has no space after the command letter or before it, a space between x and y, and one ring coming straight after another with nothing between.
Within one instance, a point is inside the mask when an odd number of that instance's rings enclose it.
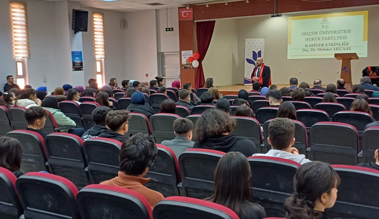
<instances>
[{"instance_id":1,"label":"red-topped seat directly behind the person in the orange sweater","mask_svg":"<svg viewBox=\"0 0 379 219\"><path fill-rule=\"evenodd\" d=\"M77 203L81 219L153 219L152 209L146 198L123 187L88 185L79 191Z\"/></svg>"}]
</instances>

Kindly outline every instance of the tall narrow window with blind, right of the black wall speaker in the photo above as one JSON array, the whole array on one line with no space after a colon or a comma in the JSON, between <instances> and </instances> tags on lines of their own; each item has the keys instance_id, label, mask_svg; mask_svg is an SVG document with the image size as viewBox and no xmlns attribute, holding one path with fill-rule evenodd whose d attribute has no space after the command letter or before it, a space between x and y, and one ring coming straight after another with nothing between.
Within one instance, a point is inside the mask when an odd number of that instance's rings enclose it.
<instances>
[{"instance_id":1,"label":"tall narrow window with blind, right of the black wall speaker","mask_svg":"<svg viewBox=\"0 0 379 219\"><path fill-rule=\"evenodd\" d=\"M105 59L105 39L103 14L93 14L94 47L96 59L96 79L97 84L103 85L104 79L104 59Z\"/></svg>"}]
</instances>

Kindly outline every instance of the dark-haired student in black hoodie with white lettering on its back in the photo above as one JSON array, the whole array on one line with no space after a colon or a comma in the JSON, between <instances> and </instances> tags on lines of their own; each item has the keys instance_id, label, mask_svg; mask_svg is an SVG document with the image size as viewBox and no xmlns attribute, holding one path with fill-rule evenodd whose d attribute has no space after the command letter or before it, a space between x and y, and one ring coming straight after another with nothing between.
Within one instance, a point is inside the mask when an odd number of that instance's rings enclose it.
<instances>
[{"instance_id":1,"label":"dark-haired student in black hoodie with white lettering on its back","mask_svg":"<svg viewBox=\"0 0 379 219\"><path fill-rule=\"evenodd\" d=\"M96 107L94 111L92 111L92 118L96 125L81 136L83 141L93 137L99 137L101 133L109 132L108 128L105 127L105 117L110 111L112 111L112 109L107 106Z\"/></svg>"}]
</instances>

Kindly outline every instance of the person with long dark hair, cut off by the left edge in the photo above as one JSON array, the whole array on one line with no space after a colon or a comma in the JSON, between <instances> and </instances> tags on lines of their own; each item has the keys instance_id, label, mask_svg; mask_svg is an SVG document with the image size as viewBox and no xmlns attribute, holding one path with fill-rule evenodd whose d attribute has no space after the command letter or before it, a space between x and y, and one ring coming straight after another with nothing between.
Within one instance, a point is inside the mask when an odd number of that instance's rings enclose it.
<instances>
[{"instance_id":1,"label":"person with long dark hair, cut off by the left edge","mask_svg":"<svg viewBox=\"0 0 379 219\"><path fill-rule=\"evenodd\" d=\"M0 137L0 167L11 171L18 178L23 175L21 160L21 143L11 137Z\"/></svg>"}]
</instances>

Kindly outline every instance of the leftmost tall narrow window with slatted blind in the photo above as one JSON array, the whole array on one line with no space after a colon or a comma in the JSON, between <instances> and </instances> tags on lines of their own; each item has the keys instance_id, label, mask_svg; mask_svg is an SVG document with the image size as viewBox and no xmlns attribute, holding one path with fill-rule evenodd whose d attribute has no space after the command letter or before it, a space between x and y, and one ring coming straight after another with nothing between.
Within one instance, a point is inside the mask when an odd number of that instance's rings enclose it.
<instances>
[{"instance_id":1,"label":"leftmost tall narrow window with slatted blind","mask_svg":"<svg viewBox=\"0 0 379 219\"><path fill-rule=\"evenodd\" d=\"M16 83L23 88L28 84L27 58L30 58L26 5L11 2L13 55L16 59Z\"/></svg>"}]
</instances>

